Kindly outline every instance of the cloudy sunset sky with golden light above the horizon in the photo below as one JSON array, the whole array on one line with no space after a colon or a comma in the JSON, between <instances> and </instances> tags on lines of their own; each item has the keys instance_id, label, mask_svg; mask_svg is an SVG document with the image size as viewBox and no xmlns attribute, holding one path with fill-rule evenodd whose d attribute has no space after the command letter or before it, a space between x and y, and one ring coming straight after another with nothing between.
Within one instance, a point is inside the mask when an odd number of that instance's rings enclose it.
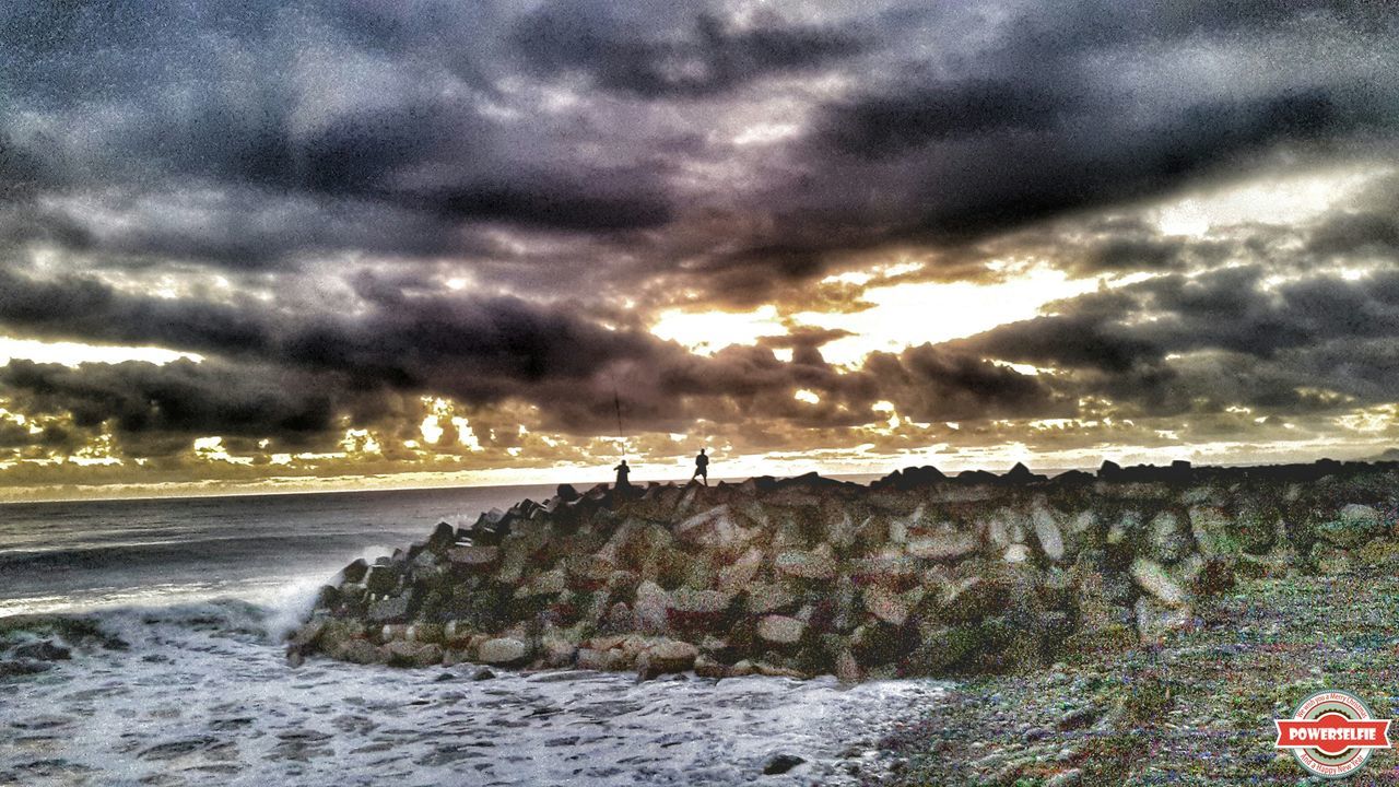
<instances>
[{"instance_id":1,"label":"cloudy sunset sky with golden light above the horizon","mask_svg":"<svg viewBox=\"0 0 1399 787\"><path fill-rule=\"evenodd\" d=\"M1381 455L1396 28L4 3L0 500Z\"/></svg>"}]
</instances>

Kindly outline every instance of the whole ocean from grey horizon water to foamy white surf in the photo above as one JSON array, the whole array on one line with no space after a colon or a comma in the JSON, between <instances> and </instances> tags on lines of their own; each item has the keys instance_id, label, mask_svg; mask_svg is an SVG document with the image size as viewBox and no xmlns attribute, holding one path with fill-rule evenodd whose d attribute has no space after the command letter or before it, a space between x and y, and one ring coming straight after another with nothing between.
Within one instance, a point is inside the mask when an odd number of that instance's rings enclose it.
<instances>
[{"instance_id":1,"label":"whole ocean from grey horizon water to foamy white surf","mask_svg":"<svg viewBox=\"0 0 1399 787\"><path fill-rule=\"evenodd\" d=\"M287 665L285 632L346 563L553 490L0 506L0 786L855 783L947 690ZM49 640L71 658L15 653ZM806 762L761 776L776 753Z\"/></svg>"}]
</instances>

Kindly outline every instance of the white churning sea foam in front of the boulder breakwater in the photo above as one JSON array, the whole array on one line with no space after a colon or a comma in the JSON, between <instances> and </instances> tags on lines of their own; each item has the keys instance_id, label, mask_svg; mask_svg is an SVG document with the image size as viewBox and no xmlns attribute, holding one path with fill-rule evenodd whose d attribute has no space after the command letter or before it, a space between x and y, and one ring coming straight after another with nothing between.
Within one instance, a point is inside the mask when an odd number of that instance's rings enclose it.
<instances>
[{"instance_id":1,"label":"white churning sea foam in front of the boulder breakwater","mask_svg":"<svg viewBox=\"0 0 1399 787\"><path fill-rule=\"evenodd\" d=\"M935 681L669 679L400 671L312 660L291 669L277 608L243 602L102 612L129 650L90 648L10 681L0 784L839 784L946 689ZM443 679L448 678L448 679Z\"/></svg>"}]
</instances>

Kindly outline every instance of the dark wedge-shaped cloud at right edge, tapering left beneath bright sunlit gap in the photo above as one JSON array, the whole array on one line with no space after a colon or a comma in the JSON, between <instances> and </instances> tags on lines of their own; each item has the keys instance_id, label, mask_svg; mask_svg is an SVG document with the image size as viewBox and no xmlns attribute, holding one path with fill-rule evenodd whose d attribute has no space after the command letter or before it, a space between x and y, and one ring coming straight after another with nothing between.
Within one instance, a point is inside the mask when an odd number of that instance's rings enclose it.
<instances>
[{"instance_id":1,"label":"dark wedge-shaped cloud at right edge, tapering left beneath bright sunlit gap","mask_svg":"<svg viewBox=\"0 0 1399 787\"><path fill-rule=\"evenodd\" d=\"M1228 405L1308 412L1399 396L1399 274L1267 281L1260 266L1171 274L1056 304L960 351L1066 372L1076 389L1177 413Z\"/></svg>"}]
</instances>

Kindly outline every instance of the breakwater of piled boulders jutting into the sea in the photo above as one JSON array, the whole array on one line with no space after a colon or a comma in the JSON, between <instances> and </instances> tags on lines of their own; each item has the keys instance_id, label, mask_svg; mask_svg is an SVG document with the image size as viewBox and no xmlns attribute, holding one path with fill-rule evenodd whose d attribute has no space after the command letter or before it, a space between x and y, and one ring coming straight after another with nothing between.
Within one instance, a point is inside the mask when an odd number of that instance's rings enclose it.
<instances>
[{"instance_id":1,"label":"breakwater of piled boulders jutting into the sea","mask_svg":"<svg viewBox=\"0 0 1399 787\"><path fill-rule=\"evenodd\" d=\"M1235 573L1389 555L1396 482L1389 465L1178 462L561 486L351 563L288 653L642 678L1032 668L1189 627Z\"/></svg>"}]
</instances>

